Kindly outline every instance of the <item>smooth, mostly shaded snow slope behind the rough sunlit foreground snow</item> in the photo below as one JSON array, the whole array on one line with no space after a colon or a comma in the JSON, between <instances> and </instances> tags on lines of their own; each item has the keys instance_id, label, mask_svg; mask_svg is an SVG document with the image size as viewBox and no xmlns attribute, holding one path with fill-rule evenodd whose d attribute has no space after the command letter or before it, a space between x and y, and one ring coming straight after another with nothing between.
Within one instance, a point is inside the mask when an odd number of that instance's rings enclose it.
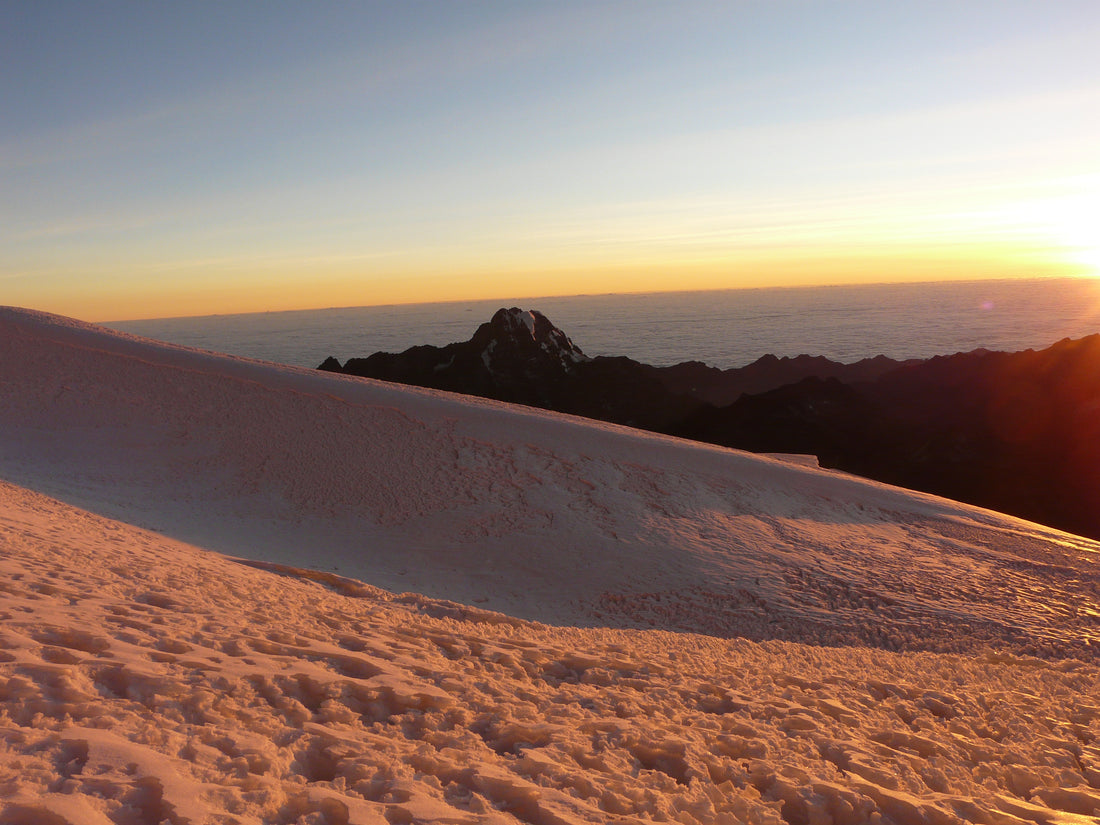
<instances>
[{"instance_id":1,"label":"smooth, mostly shaded snow slope behind the rough sunlit foreground snow","mask_svg":"<svg viewBox=\"0 0 1100 825\"><path fill-rule=\"evenodd\" d=\"M0 479L540 622L1096 654L1094 542L812 466L0 309Z\"/></svg>"}]
</instances>

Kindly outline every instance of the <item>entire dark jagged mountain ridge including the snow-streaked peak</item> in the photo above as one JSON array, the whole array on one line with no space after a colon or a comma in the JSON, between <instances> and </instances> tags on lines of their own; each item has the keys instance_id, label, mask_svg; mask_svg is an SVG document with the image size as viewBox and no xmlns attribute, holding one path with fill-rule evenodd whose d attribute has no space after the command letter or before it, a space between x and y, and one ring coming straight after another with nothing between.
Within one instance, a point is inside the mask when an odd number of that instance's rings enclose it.
<instances>
[{"instance_id":1,"label":"entire dark jagged mountain ridge including the snow-streaked peak","mask_svg":"<svg viewBox=\"0 0 1100 825\"><path fill-rule=\"evenodd\" d=\"M858 473L1100 538L1100 336L1016 353L739 369L590 358L546 316L499 309L469 341L321 370L447 389Z\"/></svg>"}]
</instances>

